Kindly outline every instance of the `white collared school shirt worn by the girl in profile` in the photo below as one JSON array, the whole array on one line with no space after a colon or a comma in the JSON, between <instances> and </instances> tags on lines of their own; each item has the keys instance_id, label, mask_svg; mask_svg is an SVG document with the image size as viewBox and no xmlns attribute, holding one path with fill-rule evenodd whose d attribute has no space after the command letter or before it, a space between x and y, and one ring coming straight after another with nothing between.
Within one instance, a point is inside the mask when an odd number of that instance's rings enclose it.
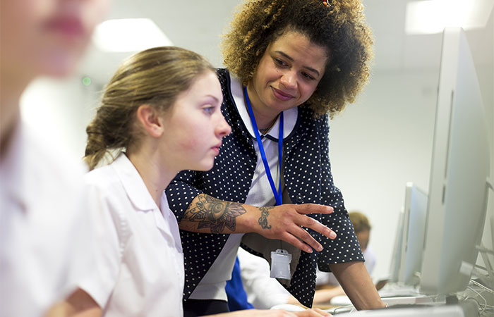
<instances>
[{"instance_id":1,"label":"white collared school shirt worn by the girl in profile","mask_svg":"<svg viewBox=\"0 0 494 317\"><path fill-rule=\"evenodd\" d=\"M160 210L125 154L85 180L100 201L101 253L81 287L104 316L183 316L183 252L166 194Z\"/></svg>"}]
</instances>

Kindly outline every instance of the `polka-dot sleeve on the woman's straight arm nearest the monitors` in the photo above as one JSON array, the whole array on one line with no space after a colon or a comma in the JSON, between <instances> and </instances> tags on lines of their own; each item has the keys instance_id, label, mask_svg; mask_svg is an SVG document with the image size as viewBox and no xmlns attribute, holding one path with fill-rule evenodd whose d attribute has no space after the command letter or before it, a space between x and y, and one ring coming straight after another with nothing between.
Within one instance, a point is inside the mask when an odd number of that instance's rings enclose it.
<instances>
[{"instance_id":1,"label":"polka-dot sleeve on the woman's straight arm nearest the monitors","mask_svg":"<svg viewBox=\"0 0 494 317\"><path fill-rule=\"evenodd\" d=\"M330 240L322 236L320 243L323 251L318 256L318 268L323 272L330 272L330 264L351 261L364 261L359 241L355 235L354 226L345 209L342 192L335 186L331 174L329 157L330 127L327 116L323 116L318 123L319 149L321 155L321 204L332 206L335 209L330 215L322 215L322 222L337 237Z\"/></svg>"}]
</instances>

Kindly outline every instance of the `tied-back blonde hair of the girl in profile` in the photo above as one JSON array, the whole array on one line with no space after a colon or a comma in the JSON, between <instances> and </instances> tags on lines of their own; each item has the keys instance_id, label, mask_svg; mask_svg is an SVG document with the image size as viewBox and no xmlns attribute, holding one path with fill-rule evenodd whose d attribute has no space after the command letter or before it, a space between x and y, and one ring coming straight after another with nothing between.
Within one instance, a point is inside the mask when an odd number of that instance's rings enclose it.
<instances>
[{"instance_id":1,"label":"tied-back blonde hair of the girl in profile","mask_svg":"<svg viewBox=\"0 0 494 317\"><path fill-rule=\"evenodd\" d=\"M96 116L86 128L84 160L90 170L111 150L138 144L141 131L135 113L140 105L166 111L207 71L215 68L205 58L175 46L147 49L124 61L104 89Z\"/></svg>"}]
</instances>

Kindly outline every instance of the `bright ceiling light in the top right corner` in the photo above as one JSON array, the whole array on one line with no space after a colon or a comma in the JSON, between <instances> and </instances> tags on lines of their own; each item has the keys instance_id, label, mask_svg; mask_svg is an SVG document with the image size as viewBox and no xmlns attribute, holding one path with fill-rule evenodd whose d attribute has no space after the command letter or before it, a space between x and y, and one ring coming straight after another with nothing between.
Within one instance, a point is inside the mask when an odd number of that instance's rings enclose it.
<instances>
[{"instance_id":1,"label":"bright ceiling light in the top right corner","mask_svg":"<svg viewBox=\"0 0 494 317\"><path fill-rule=\"evenodd\" d=\"M445 27L484 27L494 0L428 0L406 4L406 34L440 33Z\"/></svg>"}]
</instances>

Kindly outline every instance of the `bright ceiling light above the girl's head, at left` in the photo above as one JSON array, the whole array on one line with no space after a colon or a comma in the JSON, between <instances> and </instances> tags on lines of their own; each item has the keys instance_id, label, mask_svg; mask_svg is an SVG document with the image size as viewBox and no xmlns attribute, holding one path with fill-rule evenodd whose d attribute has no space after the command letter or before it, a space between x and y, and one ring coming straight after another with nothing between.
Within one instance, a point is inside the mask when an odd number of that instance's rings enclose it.
<instances>
[{"instance_id":1,"label":"bright ceiling light above the girl's head, at left","mask_svg":"<svg viewBox=\"0 0 494 317\"><path fill-rule=\"evenodd\" d=\"M142 51L173 45L150 19L106 20L95 29L92 42L102 51Z\"/></svg>"}]
</instances>

